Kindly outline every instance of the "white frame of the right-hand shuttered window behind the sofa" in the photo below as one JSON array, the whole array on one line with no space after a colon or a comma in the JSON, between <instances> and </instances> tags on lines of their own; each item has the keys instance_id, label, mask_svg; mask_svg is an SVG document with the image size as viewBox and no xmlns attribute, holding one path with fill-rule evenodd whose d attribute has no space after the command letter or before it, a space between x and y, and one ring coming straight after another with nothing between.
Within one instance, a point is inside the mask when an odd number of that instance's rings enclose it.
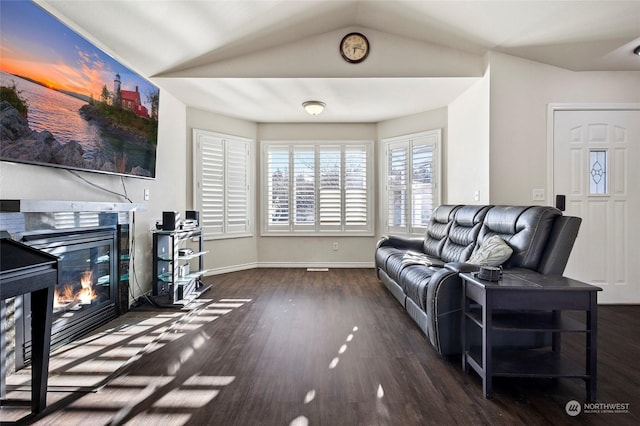
<instances>
[{"instance_id":1,"label":"white frame of the right-hand shuttered window behind the sofa","mask_svg":"<svg viewBox=\"0 0 640 426\"><path fill-rule=\"evenodd\" d=\"M428 145L432 148L432 206L435 209L438 205L440 205L441 200L441 175L440 175L440 164L441 164L441 139L442 139L442 129L434 129L425 132L413 133L409 135L396 136L391 138L382 139L382 151L383 155L380 156L380 170L382 173L380 174L380 188L382 188L381 192L381 201L379 210L382 213L382 230L383 233L391 233L391 234L404 234L404 235L424 235L426 231L426 226L423 224L413 223L412 211L412 164L413 164L413 147L419 145ZM389 155L390 150L397 148L406 148L407 150L407 168L406 176L407 176L407 184L406 184L406 195L405 195L405 207L404 207L404 223L397 226L389 225L389 193L390 193L390 185L389 185Z\"/></svg>"}]
</instances>

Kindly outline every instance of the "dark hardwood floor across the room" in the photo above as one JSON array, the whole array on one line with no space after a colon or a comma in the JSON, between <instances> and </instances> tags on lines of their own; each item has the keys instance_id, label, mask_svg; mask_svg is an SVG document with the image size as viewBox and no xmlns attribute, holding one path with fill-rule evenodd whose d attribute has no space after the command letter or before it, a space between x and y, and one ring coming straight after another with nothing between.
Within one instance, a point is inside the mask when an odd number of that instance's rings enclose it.
<instances>
[{"instance_id":1,"label":"dark hardwood floor across the room","mask_svg":"<svg viewBox=\"0 0 640 426\"><path fill-rule=\"evenodd\" d=\"M138 308L51 359L42 425L636 425L640 306L599 307L598 406L582 380L481 381L444 358L372 269L257 269L208 277L190 310ZM583 359L582 339L566 353ZM27 372L9 378L28 395ZM628 404L605 413L605 403ZM623 407L625 407L623 405ZM609 407L606 407L609 408ZM620 407L618 407L620 408ZM25 417L26 416L26 417Z\"/></svg>"}]
</instances>

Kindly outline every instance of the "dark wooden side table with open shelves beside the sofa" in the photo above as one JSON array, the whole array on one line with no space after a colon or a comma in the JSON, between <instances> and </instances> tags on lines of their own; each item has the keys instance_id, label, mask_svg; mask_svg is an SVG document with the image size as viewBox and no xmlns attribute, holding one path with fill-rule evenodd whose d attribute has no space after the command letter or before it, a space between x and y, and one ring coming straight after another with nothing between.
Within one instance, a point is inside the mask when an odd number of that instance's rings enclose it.
<instances>
[{"instance_id":1,"label":"dark wooden side table with open shelves beside the sofa","mask_svg":"<svg viewBox=\"0 0 640 426\"><path fill-rule=\"evenodd\" d=\"M596 398L597 292L601 288L566 277L505 274L498 282L460 274L463 282L462 368L482 378L485 397L494 377L577 378L586 383L587 400ZM563 316L584 311L585 321ZM498 332L543 332L551 346L536 349L494 347ZM584 364L561 353L561 335L585 336ZM481 344L472 344L482 335Z\"/></svg>"}]
</instances>

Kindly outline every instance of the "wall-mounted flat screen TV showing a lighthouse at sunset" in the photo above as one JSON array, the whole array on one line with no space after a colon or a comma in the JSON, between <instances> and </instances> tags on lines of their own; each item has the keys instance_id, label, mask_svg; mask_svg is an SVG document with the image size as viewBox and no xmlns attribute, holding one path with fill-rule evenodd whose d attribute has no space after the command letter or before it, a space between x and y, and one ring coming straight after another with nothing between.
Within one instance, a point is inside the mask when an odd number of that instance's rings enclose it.
<instances>
[{"instance_id":1,"label":"wall-mounted flat screen TV showing a lighthouse at sunset","mask_svg":"<svg viewBox=\"0 0 640 426\"><path fill-rule=\"evenodd\" d=\"M0 159L155 178L158 87L35 3L0 8Z\"/></svg>"}]
</instances>

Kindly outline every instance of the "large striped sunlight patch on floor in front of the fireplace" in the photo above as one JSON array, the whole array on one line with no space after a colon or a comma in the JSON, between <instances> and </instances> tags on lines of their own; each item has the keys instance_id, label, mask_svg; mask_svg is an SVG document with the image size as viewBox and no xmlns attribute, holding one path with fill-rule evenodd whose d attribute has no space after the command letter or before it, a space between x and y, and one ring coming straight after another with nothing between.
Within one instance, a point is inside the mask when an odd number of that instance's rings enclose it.
<instances>
[{"instance_id":1,"label":"large striped sunlight patch on floor in front of the fireplace","mask_svg":"<svg viewBox=\"0 0 640 426\"><path fill-rule=\"evenodd\" d=\"M35 424L188 424L192 413L210 403L235 376L199 376L176 382L176 374L211 338L203 327L251 299L201 301L196 309L149 313L131 323L111 326L56 350L50 361L49 405L71 395L73 402ZM146 314L138 313L138 316ZM136 318L133 319L135 321ZM117 322L118 319L114 320ZM199 331L198 331L199 330ZM167 365L167 376L121 375L124 368L178 339L184 347ZM31 369L7 378L14 394L30 389ZM55 389L53 389L55 388ZM153 407L145 411L140 406ZM168 412L173 409L178 413ZM28 414L28 407L24 408ZM16 417L20 418L20 417Z\"/></svg>"}]
</instances>

